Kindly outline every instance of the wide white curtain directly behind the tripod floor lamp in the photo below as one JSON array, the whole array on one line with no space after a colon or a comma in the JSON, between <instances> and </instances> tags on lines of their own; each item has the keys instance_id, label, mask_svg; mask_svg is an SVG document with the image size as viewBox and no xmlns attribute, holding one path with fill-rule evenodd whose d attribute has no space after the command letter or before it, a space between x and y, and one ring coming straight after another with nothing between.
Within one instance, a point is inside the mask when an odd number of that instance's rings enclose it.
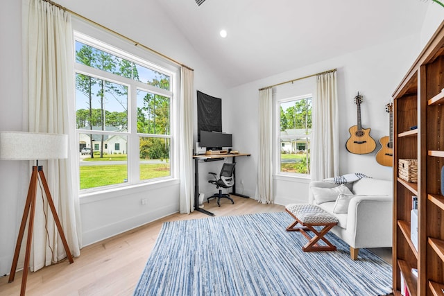
<instances>
[{"instance_id":1,"label":"wide white curtain directly behind the tripod floor lamp","mask_svg":"<svg viewBox=\"0 0 444 296\"><path fill-rule=\"evenodd\" d=\"M67 12L41 0L24 2L24 94L28 129L69 135L69 158L42 162L71 254L80 255L81 232L74 136L74 44ZM78 155L77 155L78 157ZM40 164L40 163L39 163ZM40 187L39 187L40 188ZM46 216L46 218L45 218ZM31 270L65 258L46 198L37 189Z\"/></svg>"}]
</instances>

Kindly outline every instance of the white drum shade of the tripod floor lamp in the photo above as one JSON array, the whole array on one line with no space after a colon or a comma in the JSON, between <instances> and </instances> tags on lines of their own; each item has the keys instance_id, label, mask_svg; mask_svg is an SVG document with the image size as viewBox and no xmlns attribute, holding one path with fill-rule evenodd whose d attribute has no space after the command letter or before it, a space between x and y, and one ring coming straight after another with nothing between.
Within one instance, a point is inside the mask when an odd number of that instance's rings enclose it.
<instances>
[{"instance_id":1,"label":"white drum shade of the tripod floor lamp","mask_svg":"<svg viewBox=\"0 0 444 296\"><path fill-rule=\"evenodd\" d=\"M0 132L0 159L39 160L67 157L67 134Z\"/></svg>"}]
</instances>

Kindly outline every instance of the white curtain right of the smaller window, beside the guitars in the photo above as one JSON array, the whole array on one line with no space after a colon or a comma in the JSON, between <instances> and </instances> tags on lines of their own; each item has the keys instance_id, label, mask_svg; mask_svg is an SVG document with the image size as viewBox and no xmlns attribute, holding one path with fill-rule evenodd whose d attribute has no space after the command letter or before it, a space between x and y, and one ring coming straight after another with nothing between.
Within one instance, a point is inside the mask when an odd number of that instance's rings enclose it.
<instances>
[{"instance_id":1,"label":"white curtain right of the smaller window, beside the guitars","mask_svg":"<svg viewBox=\"0 0 444 296\"><path fill-rule=\"evenodd\" d=\"M339 114L336 71L316 77L311 141L311 180L339 175Z\"/></svg>"}]
</instances>

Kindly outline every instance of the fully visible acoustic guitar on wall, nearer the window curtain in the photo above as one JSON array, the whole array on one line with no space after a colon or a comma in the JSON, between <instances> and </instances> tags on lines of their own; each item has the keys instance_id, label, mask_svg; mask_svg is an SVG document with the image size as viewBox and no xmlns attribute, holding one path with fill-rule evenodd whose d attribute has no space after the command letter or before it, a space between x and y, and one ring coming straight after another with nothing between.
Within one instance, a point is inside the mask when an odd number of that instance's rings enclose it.
<instances>
[{"instance_id":1,"label":"fully visible acoustic guitar on wall, nearer the window curtain","mask_svg":"<svg viewBox=\"0 0 444 296\"><path fill-rule=\"evenodd\" d=\"M355 154L367 154L373 152L376 148L375 140L370 137L370 128L362 128L361 125L361 103L362 96L355 96L355 104L357 105L358 124L348 129L350 138L348 138L345 147L348 152Z\"/></svg>"}]
</instances>

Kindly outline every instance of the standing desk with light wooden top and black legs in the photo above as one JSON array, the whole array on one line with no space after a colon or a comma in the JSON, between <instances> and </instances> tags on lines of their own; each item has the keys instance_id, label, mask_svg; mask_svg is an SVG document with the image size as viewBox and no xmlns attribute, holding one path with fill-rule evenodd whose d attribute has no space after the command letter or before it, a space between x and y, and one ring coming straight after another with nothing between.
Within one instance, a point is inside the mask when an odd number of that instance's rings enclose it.
<instances>
[{"instance_id":1,"label":"standing desk with light wooden top and black legs","mask_svg":"<svg viewBox=\"0 0 444 296\"><path fill-rule=\"evenodd\" d=\"M217 155L193 155L194 159L194 209L196 211L200 211L204 214L214 216L214 214L210 211L206 211L205 209L200 209L199 207L199 160L203 160L204 162L214 162L216 160L221 160L224 158L231 158L232 162L236 162L236 157L244 157L250 156L250 153L237 153L237 154L217 154ZM232 186L232 192L230 194L241 196L242 198L250 198L247 195L236 193L236 167L234 167L233 172L234 185Z\"/></svg>"}]
</instances>

